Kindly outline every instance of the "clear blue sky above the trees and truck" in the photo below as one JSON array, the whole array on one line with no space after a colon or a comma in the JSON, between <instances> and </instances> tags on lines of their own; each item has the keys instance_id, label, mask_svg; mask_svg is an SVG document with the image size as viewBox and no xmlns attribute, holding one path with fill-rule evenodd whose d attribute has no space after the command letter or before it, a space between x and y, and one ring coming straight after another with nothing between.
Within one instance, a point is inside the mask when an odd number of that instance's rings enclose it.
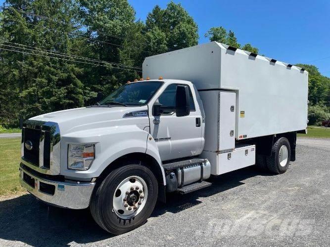
<instances>
[{"instance_id":1,"label":"clear blue sky above the trees and truck","mask_svg":"<svg viewBox=\"0 0 330 247\"><path fill-rule=\"evenodd\" d=\"M145 20L170 0L129 0L136 18ZM330 0L174 0L198 25L199 43L211 27L234 31L240 44L290 64L307 63L330 77ZM2 5L3 0L0 0Z\"/></svg>"}]
</instances>

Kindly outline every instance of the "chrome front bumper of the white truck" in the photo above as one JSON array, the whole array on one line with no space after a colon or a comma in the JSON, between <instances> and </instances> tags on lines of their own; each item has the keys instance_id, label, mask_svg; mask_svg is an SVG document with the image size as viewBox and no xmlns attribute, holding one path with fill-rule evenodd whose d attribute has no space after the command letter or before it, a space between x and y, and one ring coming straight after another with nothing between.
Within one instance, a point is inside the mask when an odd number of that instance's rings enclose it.
<instances>
[{"instance_id":1,"label":"chrome front bumper of the white truck","mask_svg":"<svg viewBox=\"0 0 330 247\"><path fill-rule=\"evenodd\" d=\"M72 209L90 205L94 182L51 181L32 174L20 166L20 183L32 195L48 204Z\"/></svg>"}]
</instances>

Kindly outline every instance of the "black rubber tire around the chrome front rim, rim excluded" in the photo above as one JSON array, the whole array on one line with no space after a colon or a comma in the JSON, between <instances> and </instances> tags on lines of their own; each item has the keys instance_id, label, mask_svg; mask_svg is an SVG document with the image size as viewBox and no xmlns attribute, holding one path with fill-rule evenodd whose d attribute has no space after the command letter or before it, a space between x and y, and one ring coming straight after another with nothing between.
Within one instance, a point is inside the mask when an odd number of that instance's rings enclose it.
<instances>
[{"instance_id":1,"label":"black rubber tire around the chrome front rim, rim excluded","mask_svg":"<svg viewBox=\"0 0 330 247\"><path fill-rule=\"evenodd\" d=\"M141 212L131 219L122 219L113 211L113 195L119 183L130 176L141 177L148 189L148 197ZM125 165L114 169L94 189L90 210L96 223L109 233L119 235L141 226L155 207L158 183L154 174L143 165Z\"/></svg>"}]
</instances>

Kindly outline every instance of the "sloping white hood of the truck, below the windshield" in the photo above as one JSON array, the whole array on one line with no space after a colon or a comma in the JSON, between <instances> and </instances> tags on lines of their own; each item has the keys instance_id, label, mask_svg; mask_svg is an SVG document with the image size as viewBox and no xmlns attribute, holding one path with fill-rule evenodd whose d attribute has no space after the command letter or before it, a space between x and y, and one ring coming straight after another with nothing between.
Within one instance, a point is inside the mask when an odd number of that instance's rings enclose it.
<instances>
[{"instance_id":1,"label":"sloping white hood of the truck, below the windshield","mask_svg":"<svg viewBox=\"0 0 330 247\"><path fill-rule=\"evenodd\" d=\"M128 124L149 124L148 117L124 118L124 115L136 111L147 111L147 106L141 107L84 107L51 112L30 120L54 122L59 125L61 135L109 126Z\"/></svg>"}]
</instances>

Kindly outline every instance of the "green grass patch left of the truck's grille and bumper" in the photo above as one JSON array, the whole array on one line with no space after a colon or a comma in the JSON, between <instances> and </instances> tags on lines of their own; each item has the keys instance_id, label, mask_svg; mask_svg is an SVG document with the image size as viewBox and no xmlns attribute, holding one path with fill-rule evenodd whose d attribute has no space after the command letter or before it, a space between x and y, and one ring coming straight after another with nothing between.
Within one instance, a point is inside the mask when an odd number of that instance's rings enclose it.
<instances>
[{"instance_id":1,"label":"green grass patch left of the truck's grille and bumper","mask_svg":"<svg viewBox=\"0 0 330 247\"><path fill-rule=\"evenodd\" d=\"M20 138L0 138L0 196L19 194Z\"/></svg>"}]
</instances>

